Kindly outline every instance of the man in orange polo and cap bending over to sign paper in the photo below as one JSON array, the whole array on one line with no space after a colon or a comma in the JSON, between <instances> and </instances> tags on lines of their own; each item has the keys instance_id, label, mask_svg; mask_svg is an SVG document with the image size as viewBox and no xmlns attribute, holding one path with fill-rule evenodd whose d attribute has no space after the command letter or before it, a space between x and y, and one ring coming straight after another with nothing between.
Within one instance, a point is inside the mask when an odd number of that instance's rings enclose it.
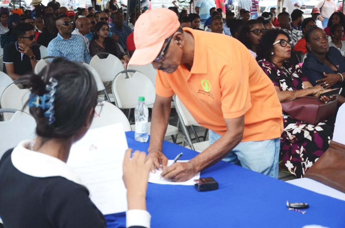
<instances>
[{"instance_id":1,"label":"man in orange polo and cap bending over to sign paper","mask_svg":"<svg viewBox=\"0 0 345 228\"><path fill-rule=\"evenodd\" d=\"M272 82L242 43L223 34L182 29L167 9L143 13L134 41L129 64L152 62L158 69L148 148L152 172L163 169L164 178L185 181L224 158L278 177L282 107ZM187 163L166 167L162 141L174 93L210 130L210 146Z\"/></svg>"}]
</instances>

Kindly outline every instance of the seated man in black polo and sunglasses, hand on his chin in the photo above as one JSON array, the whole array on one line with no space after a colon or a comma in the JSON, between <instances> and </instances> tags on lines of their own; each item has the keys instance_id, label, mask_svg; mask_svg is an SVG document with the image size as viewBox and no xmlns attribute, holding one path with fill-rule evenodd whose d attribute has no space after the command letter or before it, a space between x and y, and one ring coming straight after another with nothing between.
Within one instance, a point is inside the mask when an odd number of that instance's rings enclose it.
<instances>
[{"instance_id":1,"label":"seated man in black polo and sunglasses, hand on his chin","mask_svg":"<svg viewBox=\"0 0 345 228\"><path fill-rule=\"evenodd\" d=\"M33 25L18 23L14 28L14 36L17 41L5 46L3 50L3 72L13 80L20 75L32 73L41 53L38 45L35 45L35 33Z\"/></svg>"}]
</instances>

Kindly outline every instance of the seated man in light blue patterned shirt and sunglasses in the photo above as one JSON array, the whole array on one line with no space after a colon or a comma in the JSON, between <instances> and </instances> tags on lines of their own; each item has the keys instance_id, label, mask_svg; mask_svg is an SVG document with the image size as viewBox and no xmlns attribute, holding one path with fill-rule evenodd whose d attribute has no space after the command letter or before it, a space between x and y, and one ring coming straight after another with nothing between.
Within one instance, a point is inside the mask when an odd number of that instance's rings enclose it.
<instances>
[{"instance_id":1,"label":"seated man in light blue patterned shirt and sunglasses","mask_svg":"<svg viewBox=\"0 0 345 228\"><path fill-rule=\"evenodd\" d=\"M91 56L81 35L72 33L72 21L66 14L56 18L58 36L48 45L48 55L58 56L70 61L90 63Z\"/></svg>"}]
</instances>

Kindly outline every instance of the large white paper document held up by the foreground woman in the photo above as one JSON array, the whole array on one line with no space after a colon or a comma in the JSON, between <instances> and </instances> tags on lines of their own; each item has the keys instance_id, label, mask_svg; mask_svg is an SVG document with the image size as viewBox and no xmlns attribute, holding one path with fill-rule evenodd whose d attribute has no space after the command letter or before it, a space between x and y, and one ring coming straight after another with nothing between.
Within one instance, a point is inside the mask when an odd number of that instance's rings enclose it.
<instances>
[{"instance_id":1,"label":"large white paper document held up by the foreground woman","mask_svg":"<svg viewBox=\"0 0 345 228\"><path fill-rule=\"evenodd\" d=\"M122 123L90 129L73 144L67 164L80 176L103 215L127 211L122 162L128 148Z\"/></svg>"}]
</instances>

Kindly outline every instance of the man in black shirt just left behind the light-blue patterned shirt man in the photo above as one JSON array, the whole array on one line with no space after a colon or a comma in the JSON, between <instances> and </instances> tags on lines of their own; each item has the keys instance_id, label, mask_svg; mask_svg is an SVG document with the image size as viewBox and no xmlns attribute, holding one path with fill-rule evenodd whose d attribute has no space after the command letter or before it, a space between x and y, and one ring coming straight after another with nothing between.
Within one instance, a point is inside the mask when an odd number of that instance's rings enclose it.
<instances>
[{"instance_id":1,"label":"man in black shirt just left behind the light-blue patterned shirt man","mask_svg":"<svg viewBox=\"0 0 345 228\"><path fill-rule=\"evenodd\" d=\"M43 17L45 28L42 33L38 35L37 43L48 47L49 42L58 35L58 30L55 25L56 16L54 13L47 13Z\"/></svg>"}]
</instances>

